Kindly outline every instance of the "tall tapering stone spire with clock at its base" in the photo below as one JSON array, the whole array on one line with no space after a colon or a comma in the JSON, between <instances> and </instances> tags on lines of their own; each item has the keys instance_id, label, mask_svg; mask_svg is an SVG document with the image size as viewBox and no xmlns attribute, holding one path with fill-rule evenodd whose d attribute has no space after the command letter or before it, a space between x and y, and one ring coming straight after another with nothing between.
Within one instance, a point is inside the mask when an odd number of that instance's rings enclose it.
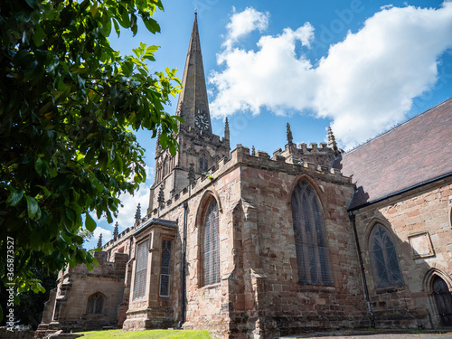
<instances>
[{"instance_id":1,"label":"tall tapering stone spire with clock at its base","mask_svg":"<svg viewBox=\"0 0 452 339\"><path fill-rule=\"evenodd\" d=\"M184 118L185 123L180 127L192 127L212 133L196 12L194 13L193 29L185 61L182 86L183 89L179 94L176 114Z\"/></svg>"}]
</instances>

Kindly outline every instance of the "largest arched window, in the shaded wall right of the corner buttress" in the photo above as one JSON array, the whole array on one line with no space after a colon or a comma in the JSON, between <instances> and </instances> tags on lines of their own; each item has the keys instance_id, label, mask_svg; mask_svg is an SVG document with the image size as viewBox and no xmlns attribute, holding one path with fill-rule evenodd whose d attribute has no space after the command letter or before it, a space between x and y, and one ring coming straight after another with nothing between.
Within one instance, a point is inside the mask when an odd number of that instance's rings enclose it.
<instances>
[{"instance_id":1,"label":"largest arched window, in the shaded wall right of the corner buttress","mask_svg":"<svg viewBox=\"0 0 452 339\"><path fill-rule=\"evenodd\" d=\"M324 212L314 189L301 181L292 193L292 217L301 284L333 285Z\"/></svg>"}]
</instances>

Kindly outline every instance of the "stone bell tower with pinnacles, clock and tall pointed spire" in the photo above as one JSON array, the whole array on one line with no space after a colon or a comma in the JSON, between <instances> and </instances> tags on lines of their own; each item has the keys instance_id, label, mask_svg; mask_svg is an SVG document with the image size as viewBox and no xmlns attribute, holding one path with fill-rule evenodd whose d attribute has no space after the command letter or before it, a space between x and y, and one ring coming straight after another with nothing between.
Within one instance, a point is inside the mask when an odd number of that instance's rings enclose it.
<instances>
[{"instance_id":1,"label":"stone bell tower with pinnacles, clock and tall pointed spire","mask_svg":"<svg viewBox=\"0 0 452 339\"><path fill-rule=\"evenodd\" d=\"M194 22L175 114L184 119L178 122L176 140L180 152L172 156L162 149L157 136L155 147L155 178L149 195L147 213L165 207L174 194L190 184L189 174L195 178L215 168L222 157L230 154L230 132L226 120L224 137L212 134L211 113L202 65L198 18Z\"/></svg>"}]
</instances>

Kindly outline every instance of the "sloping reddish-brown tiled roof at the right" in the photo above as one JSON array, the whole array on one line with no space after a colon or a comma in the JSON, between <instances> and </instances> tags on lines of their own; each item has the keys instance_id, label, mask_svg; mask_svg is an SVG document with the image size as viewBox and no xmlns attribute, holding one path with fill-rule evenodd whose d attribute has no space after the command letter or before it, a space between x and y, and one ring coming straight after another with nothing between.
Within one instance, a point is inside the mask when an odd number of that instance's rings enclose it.
<instances>
[{"instance_id":1,"label":"sloping reddish-brown tiled roof at the right","mask_svg":"<svg viewBox=\"0 0 452 339\"><path fill-rule=\"evenodd\" d=\"M349 210L452 174L452 99L335 159L357 191Z\"/></svg>"}]
</instances>

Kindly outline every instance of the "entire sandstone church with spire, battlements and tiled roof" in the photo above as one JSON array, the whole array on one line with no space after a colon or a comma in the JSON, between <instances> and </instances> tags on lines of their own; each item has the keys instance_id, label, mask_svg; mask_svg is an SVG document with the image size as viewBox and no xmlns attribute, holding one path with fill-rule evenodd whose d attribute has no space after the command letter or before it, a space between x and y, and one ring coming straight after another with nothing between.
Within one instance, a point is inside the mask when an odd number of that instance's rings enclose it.
<instances>
[{"instance_id":1,"label":"entire sandstone church with spire, battlements and tiled roof","mask_svg":"<svg viewBox=\"0 0 452 339\"><path fill-rule=\"evenodd\" d=\"M348 153L212 134L196 16L149 206L60 273L37 336L182 327L226 338L452 326L452 99Z\"/></svg>"}]
</instances>

